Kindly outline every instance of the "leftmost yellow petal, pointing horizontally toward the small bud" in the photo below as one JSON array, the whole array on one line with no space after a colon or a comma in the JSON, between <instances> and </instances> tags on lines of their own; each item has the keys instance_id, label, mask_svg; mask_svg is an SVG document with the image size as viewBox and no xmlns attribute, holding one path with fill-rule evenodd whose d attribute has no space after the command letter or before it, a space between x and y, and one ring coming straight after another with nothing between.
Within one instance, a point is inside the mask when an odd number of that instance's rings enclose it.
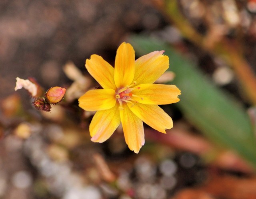
<instances>
[{"instance_id":1,"label":"leftmost yellow petal, pointing horizontally toward the small bud","mask_svg":"<svg viewBox=\"0 0 256 199\"><path fill-rule=\"evenodd\" d=\"M116 104L116 92L113 89L96 89L87 91L79 99L79 106L84 110L106 110Z\"/></svg>"}]
</instances>

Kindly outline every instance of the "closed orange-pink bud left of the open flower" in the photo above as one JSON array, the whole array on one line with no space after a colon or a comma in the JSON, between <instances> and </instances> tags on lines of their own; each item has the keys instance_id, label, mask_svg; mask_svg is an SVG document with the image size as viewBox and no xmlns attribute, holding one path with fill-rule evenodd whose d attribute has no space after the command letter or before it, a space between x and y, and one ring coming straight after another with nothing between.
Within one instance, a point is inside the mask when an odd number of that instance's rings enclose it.
<instances>
[{"instance_id":1,"label":"closed orange-pink bud left of the open flower","mask_svg":"<svg viewBox=\"0 0 256 199\"><path fill-rule=\"evenodd\" d=\"M46 92L46 99L51 104L56 104L64 97L66 89L61 87L52 87Z\"/></svg>"}]
</instances>

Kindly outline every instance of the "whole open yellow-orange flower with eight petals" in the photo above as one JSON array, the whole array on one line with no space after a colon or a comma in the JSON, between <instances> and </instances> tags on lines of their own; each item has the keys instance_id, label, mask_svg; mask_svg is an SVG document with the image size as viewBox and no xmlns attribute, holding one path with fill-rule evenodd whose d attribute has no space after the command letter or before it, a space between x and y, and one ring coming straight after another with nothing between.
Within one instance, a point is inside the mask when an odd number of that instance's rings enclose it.
<instances>
[{"instance_id":1,"label":"whole open yellow-orange flower with eight petals","mask_svg":"<svg viewBox=\"0 0 256 199\"><path fill-rule=\"evenodd\" d=\"M97 111L89 126L93 142L106 141L122 123L126 144L138 153L145 142L143 122L162 133L172 128L172 118L158 105L178 102L180 90L153 84L169 67L163 53L154 51L135 60L132 45L122 43L115 67L99 55L86 59L86 69L102 87L78 99L84 110Z\"/></svg>"}]
</instances>

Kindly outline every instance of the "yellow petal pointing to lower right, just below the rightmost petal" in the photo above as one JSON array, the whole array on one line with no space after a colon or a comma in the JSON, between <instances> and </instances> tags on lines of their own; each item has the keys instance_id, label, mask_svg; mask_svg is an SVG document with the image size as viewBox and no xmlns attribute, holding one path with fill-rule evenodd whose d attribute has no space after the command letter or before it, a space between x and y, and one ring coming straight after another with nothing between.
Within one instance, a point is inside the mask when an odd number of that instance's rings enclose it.
<instances>
[{"instance_id":1,"label":"yellow petal pointing to lower right, just below the rightmost petal","mask_svg":"<svg viewBox=\"0 0 256 199\"><path fill-rule=\"evenodd\" d=\"M136 103L128 104L128 107L138 118L159 132L166 133L165 129L173 126L172 118L157 105Z\"/></svg>"}]
</instances>

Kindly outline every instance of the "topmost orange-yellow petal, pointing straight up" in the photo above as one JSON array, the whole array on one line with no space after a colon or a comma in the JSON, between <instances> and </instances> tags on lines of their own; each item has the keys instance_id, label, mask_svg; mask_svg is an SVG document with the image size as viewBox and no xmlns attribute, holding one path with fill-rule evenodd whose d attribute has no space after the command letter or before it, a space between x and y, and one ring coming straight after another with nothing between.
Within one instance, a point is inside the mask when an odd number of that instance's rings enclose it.
<instances>
[{"instance_id":1,"label":"topmost orange-yellow petal, pointing straight up","mask_svg":"<svg viewBox=\"0 0 256 199\"><path fill-rule=\"evenodd\" d=\"M130 43L123 42L117 49L114 80L117 88L130 85L134 78L135 51Z\"/></svg>"}]
</instances>

